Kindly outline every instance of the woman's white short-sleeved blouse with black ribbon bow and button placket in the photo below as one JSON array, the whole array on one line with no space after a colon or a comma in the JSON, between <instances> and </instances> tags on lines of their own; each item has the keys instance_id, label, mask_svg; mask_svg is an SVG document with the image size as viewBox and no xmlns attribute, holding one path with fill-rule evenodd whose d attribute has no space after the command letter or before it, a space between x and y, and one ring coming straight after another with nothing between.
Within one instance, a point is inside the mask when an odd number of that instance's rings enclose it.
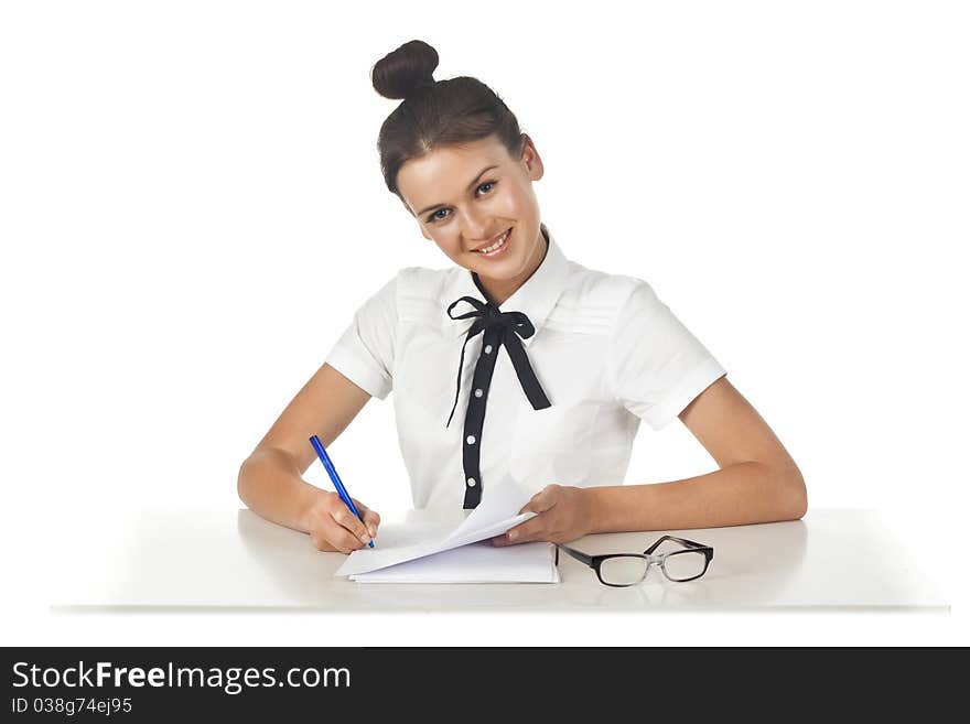
<instances>
[{"instance_id":1,"label":"woman's white short-sleeved blouse with black ribbon bow and button placket","mask_svg":"<svg viewBox=\"0 0 970 724\"><path fill-rule=\"evenodd\" d=\"M619 485L640 419L660 430L726 374L647 282L568 260L540 228L546 257L500 307L466 269L409 267L326 358L373 397L394 388L416 508L473 508L506 473L530 494Z\"/></svg>"}]
</instances>

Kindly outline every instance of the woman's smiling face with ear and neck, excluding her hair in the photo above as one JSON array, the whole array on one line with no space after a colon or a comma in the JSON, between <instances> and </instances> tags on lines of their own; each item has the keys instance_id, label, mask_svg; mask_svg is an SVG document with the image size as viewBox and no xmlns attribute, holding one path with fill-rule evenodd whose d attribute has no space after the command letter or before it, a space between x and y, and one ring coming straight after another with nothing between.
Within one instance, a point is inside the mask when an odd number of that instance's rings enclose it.
<instances>
[{"instance_id":1,"label":"woman's smiling face with ear and neck, excluding her hair","mask_svg":"<svg viewBox=\"0 0 970 724\"><path fill-rule=\"evenodd\" d=\"M531 139L524 138L521 159L489 136L412 159L397 179L424 238L476 272L497 304L521 287L546 253L532 191L532 182L542 177L542 161Z\"/></svg>"}]
</instances>

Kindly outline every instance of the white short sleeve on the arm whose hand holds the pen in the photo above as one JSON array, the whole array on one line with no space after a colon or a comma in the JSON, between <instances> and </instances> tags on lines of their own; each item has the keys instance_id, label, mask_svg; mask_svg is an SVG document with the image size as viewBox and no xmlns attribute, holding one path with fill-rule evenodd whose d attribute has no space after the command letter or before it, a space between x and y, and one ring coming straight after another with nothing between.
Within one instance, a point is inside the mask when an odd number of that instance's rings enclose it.
<instances>
[{"instance_id":1,"label":"white short sleeve on the arm whose hand holds the pen","mask_svg":"<svg viewBox=\"0 0 970 724\"><path fill-rule=\"evenodd\" d=\"M397 333L395 277L354 313L354 318L326 357L326 363L379 400L391 390Z\"/></svg>"}]
</instances>

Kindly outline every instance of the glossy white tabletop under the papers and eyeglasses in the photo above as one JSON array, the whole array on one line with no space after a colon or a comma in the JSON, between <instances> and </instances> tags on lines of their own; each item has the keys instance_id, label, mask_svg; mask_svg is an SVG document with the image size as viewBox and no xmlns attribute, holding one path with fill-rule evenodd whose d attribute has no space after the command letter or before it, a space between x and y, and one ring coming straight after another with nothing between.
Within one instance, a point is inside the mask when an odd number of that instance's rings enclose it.
<instances>
[{"instance_id":1,"label":"glossy white tabletop under the papers and eyeglasses","mask_svg":"<svg viewBox=\"0 0 970 724\"><path fill-rule=\"evenodd\" d=\"M441 519L410 511L397 520ZM389 520L389 518L385 518ZM359 584L341 553L249 510L144 510L91 530L63 559L55 609L69 610L942 610L949 605L879 516L810 510L791 522L588 536L590 553L640 552L664 532L714 547L707 574L657 569L612 588L568 555L559 584ZM380 538L378 533L377 543Z\"/></svg>"}]
</instances>

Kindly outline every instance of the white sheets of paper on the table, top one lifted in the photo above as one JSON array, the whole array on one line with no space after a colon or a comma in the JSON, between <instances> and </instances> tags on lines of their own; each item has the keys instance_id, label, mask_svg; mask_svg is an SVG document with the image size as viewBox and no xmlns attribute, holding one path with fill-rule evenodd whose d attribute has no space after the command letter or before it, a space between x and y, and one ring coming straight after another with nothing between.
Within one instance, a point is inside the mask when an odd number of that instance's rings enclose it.
<instances>
[{"instance_id":1,"label":"white sheets of paper on the table, top one lifted","mask_svg":"<svg viewBox=\"0 0 970 724\"><path fill-rule=\"evenodd\" d=\"M488 540L536 516L510 477L489 486L459 526L381 527L376 548L354 551L334 575L360 583L559 583L554 545L496 548Z\"/></svg>"}]
</instances>

